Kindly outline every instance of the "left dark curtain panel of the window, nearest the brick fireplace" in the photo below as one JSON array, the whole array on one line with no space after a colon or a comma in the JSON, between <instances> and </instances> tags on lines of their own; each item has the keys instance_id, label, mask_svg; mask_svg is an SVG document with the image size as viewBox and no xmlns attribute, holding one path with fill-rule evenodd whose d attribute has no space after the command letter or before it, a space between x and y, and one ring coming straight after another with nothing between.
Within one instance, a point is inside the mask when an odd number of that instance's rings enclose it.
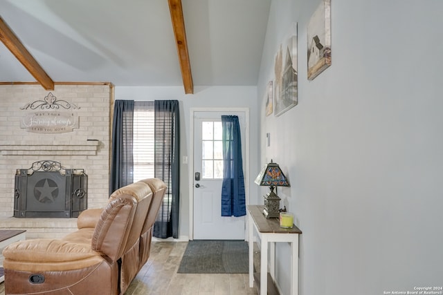
<instances>
[{"instance_id":1,"label":"left dark curtain panel of the window, nearest the brick fireplace","mask_svg":"<svg viewBox=\"0 0 443 295\"><path fill-rule=\"evenodd\" d=\"M109 196L134 180L133 127L134 100L116 100L112 121Z\"/></svg>"}]
</instances>

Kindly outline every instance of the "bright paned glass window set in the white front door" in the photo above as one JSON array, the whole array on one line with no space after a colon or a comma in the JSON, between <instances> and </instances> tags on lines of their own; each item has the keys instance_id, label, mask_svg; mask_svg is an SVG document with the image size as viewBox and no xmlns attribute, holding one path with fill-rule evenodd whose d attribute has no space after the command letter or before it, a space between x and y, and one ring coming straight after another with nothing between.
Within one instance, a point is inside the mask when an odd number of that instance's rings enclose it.
<instances>
[{"instance_id":1,"label":"bright paned glass window set in the white front door","mask_svg":"<svg viewBox=\"0 0 443 295\"><path fill-rule=\"evenodd\" d=\"M202 178L223 178L223 145L221 122L201 122Z\"/></svg>"}]
</instances>

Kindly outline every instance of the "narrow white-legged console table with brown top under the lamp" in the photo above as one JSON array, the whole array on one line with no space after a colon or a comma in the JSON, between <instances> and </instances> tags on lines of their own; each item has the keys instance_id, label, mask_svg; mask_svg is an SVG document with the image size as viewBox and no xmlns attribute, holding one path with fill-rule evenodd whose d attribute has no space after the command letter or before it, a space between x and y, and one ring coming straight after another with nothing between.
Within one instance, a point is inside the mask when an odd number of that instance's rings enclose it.
<instances>
[{"instance_id":1,"label":"narrow white-legged console table with brown top under the lamp","mask_svg":"<svg viewBox=\"0 0 443 295\"><path fill-rule=\"evenodd\" d=\"M261 242L260 253L260 295L266 295L268 289L268 242L270 242L269 274L275 280L275 242L291 243L291 295L298 295L298 237L302 231L295 225L292 229L280 227L278 218L266 219L262 205L248 205L249 223L249 287L254 287L253 277L253 242L254 230Z\"/></svg>"}]
</instances>

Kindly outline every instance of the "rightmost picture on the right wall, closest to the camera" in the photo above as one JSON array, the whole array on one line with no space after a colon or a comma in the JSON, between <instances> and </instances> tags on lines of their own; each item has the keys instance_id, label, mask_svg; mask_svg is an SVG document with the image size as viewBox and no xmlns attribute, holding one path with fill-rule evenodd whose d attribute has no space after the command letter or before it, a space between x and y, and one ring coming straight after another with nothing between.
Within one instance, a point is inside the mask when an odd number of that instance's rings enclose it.
<instances>
[{"instance_id":1,"label":"rightmost picture on the right wall, closest to the camera","mask_svg":"<svg viewBox=\"0 0 443 295\"><path fill-rule=\"evenodd\" d=\"M307 26L307 79L331 65L331 0L323 0Z\"/></svg>"}]
</instances>

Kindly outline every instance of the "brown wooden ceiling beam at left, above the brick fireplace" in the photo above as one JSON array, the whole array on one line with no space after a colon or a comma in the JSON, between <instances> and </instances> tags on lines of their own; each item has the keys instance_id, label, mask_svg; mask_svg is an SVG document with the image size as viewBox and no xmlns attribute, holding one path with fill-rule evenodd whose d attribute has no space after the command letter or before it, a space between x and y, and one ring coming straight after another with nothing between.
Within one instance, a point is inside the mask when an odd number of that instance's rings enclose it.
<instances>
[{"instance_id":1,"label":"brown wooden ceiling beam at left, above the brick fireplace","mask_svg":"<svg viewBox=\"0 0 443 295\"><path fill-rule=\"evenodd\" d=\"M0 17L0 40L5 44L6 48L15 55L15 57L24 65L30 75L46 90L54 90L54 82L51 77L46 74L42 66L35 60L33 55L29 53L26 47L21 44L19 38L12 32L8 24Z\"/></svg>"}]
</instances>

